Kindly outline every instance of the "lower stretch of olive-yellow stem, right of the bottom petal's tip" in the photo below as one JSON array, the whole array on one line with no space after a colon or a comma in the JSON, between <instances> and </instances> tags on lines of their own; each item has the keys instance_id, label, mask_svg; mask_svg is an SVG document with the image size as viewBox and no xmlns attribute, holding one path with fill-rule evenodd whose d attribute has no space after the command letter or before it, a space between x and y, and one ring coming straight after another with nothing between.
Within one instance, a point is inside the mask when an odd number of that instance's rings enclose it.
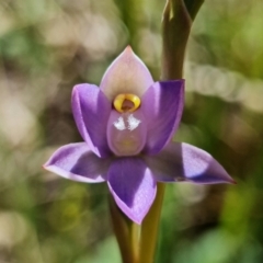
<instances>
[{"instance_id":1,"label":"lower stretch of olive-yellow stem, right of the bottom petal's tip","mask_svg":"<svg viewBox=\"0 0 263 263\"><path fill-rule=\"evenodd\" d=\"M152 263L157 245L162 199L165 185L158 183L156 199L141 225L139 263Z\"/></svg>"}]
</instances>

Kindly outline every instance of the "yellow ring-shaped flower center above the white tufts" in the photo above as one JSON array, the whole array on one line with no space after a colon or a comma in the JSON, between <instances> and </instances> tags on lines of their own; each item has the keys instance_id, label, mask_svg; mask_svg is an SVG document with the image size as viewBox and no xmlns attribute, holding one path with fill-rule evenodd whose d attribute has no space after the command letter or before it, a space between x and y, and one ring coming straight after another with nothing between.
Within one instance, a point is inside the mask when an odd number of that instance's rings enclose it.
<instances>
[{"instance_id":1,"label":"yellow ring-shaped flower center above the white tufts","mask_svg":"<svg viewBox=\"0 0 263 263\"><path fill-rule=\"evenodd\" d=\"M135 112L140 106L140 99L135 94L118 94L114 99L113 105L119 113Z\"/></svg>"}]
</instances>

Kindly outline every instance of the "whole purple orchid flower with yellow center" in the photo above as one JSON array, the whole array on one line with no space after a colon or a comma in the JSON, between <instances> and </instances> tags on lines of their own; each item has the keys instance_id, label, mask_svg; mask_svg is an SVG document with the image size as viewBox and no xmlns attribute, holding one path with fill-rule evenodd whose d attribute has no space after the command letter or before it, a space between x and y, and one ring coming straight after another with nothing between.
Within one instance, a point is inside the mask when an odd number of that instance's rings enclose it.
<instances>
[{"instance_id":1,"label":"whole purple orchid flower with yellow center","mask_svg":"<svg viewBox=\"0 0 263 263\"><path fill-rule=\"evenodd\" d=\"M182 116L184 80L153 82L130 47L110 66L100 89L76 85L71 103L84 142L62 146L44 168L75 181L106 181L118 207L137 224L155 199L157 182L233 183L209 153L171 140Z\"/></svg>"}]
</instances>

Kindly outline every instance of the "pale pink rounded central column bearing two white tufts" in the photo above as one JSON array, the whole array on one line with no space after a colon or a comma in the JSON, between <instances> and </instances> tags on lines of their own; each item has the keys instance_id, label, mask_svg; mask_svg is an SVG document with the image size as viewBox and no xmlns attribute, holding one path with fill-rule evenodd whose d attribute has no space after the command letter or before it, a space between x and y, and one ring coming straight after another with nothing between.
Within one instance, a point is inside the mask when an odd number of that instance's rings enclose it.
<instances>
[{"instance_id":1,"label":"pale pink rounded central column bearing two white tufts","mask_svg":"<svg viewBox=\"0 0 263 263\"><path fill-rule=\"evenodd\" d=\"M136 156L145 146L147 126L141 111L113 110L107 123L107 144L116 156Z\"/></svg>"}]
</instances>

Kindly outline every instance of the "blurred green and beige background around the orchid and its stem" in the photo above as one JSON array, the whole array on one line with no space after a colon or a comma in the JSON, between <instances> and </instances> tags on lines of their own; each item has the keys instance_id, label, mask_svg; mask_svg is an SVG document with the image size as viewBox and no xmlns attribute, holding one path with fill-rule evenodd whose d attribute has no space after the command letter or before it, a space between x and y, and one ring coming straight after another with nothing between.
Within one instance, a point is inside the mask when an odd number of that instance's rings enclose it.
<instances>
[{"instance_id":1,"label":"blurred green and beige background around the orchid and its stem","mask_svg":"<svg viewBox=\"0 0 263 263\"><path fill-rule=\"evenodd\" d=\"M132 44L160 75L164 0L0 1L0 263L121 263L105 184L42 169L80 141L73 84L100 83ZM157 263L263 262L263 1L207 0L185 60L175 136L237 185L170 184Z\"/></svg>"}]
</instances>

